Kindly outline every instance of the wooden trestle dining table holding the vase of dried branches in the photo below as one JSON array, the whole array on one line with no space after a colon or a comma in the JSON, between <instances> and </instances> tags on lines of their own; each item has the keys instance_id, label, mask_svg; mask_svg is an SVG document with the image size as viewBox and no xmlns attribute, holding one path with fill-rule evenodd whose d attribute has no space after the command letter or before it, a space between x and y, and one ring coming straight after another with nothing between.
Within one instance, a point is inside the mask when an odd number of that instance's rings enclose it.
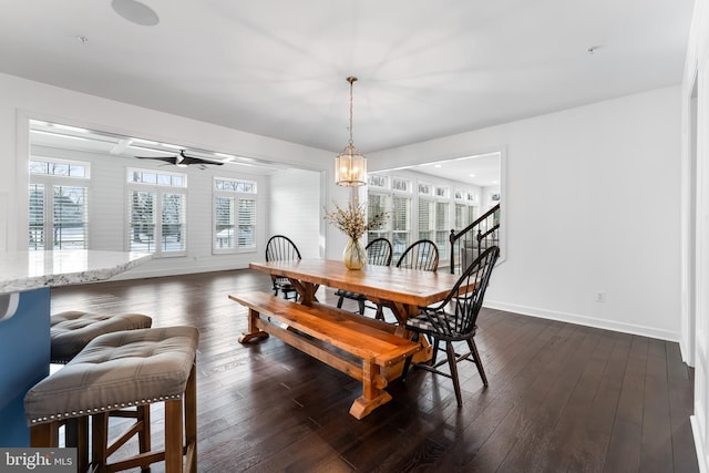
<instances>
[{"instance_id":1,"label":"wooden trestle dining table holding the vase of dried branches","mask_svg":"<svg viewBox=\"0 0 709 473\"><path fill-rule=\"evenodd\" d=\"M397 318L394 333L405 338L409 338L407 319L418 315L419 307L443 300L459 278L449 273L392 266L367 265L351 270L342 261L319 258L250 263L249 268L287 277L298 291L300 304L306 306L318 301L316 292L320 286L362 294L391 309Z\"/></svg>"}]
</instances>

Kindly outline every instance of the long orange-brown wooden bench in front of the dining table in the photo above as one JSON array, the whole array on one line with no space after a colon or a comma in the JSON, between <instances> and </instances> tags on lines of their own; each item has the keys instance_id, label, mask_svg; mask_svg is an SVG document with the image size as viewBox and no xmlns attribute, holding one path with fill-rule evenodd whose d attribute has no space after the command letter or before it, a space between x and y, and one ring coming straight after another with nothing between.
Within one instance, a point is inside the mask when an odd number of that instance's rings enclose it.
<instances>
[{"instance_id":1,"label":"long orange-brown wooden bench in front of the dining table","mask_svg":"<svg viewBox=\"0 0 709 473\"><path fill-rule=\"evenodd\" d=\"M248 307L248 332L239 337L245 343L273 335L362 382L362 395L354 400L350 414L362 419L391 400L384 391L395 377L387 368L421 350L421 345L398 337L394 327L336 307L312 302L304 306L266 292L229 296ZM270 320L268 320L270 318ZM274 321L279 321L281 327Z\"/></svg>"}]
</instances>

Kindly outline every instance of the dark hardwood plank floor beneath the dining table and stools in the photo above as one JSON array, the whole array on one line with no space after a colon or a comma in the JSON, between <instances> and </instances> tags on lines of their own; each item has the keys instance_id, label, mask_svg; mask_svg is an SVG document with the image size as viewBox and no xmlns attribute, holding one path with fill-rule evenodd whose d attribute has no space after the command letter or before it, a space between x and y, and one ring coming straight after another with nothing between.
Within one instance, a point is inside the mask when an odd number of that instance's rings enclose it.
<instances>
[{"instance_id":1,"label":"dark hardwood plank floor beneath the dining table and stools","mask_svg":"<svg viewBox=\"0 0 709 473\"><path fill-rule=\"evenodd\" d=\"M199 329L199 472L699 471L692 371L677 343L484 310L475 340L487 389L462 363L459 409L450 380L418 370L358 421L348 411L360 383L277 338L236 341L246 310L227 295L269 287L251 270L60 287L52 312L143 312L154 327Z\"/></svg>"}]
</instances>

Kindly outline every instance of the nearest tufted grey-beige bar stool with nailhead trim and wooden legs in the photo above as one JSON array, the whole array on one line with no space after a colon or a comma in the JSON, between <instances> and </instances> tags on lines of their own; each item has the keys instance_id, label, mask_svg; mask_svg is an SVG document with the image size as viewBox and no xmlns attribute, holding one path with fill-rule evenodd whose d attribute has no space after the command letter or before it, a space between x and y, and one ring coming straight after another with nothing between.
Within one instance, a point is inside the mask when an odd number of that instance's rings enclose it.
<instances>
[{"instance_id":1,"label":"nearest tufted grey-beige bar stool with nailhead trim and wooden legs","mask_svg":"<svg viewBox=\"0 0 709 473\"><path fill-rule=\"evenodd\" d=\"M165 461L167 473L195 472L198 338L194 327L127 330L96 337L25 395L31 446L58 446L63 421L90 415L93 469L147 469L152 463ZM164 402L165 407L165 448L158 451L151 450L150 434L150 404L155 402ZM137 407L135 423L109 444L109 415L131 407ZM109 457L135 434L140 453L109 463Z\"/></svg>"}]
</instances>

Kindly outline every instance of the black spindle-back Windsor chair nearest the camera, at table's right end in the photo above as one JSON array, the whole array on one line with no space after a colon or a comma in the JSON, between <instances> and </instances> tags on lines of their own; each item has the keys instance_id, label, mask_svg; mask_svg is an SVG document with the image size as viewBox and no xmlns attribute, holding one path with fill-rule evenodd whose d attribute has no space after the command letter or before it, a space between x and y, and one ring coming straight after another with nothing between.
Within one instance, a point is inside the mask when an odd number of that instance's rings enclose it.
<instances>
[{"instance_id":1,"label":"black spindle-back Windsor chair nearest the camera, at table's right end","mask_svg":"<svg viewBox=\"0 0 709 473\"><path fill-rule=\"evenodd\" d=\"M413 332L412 340L418 341L421 333L433 340L433 357L431 364L414 363L418 368L441 374L453 380L455 400L458 405L463 405L461 398L461 387L458 379L458 363L463 360L472 361L477 367L477 372L487 385L487 377L483 369L477 347L475 346L475 331L477 326L477 315L483 305L483 298L490 276L500 256L500 248L492 246L483 251L458 279L449 295L436 306L421 307L418 316L407 320L405 328ZM454 341L465 341L470 351L463 354L455 352ZM439 343L445 342L445 360L435 361L435 354L440 349ZM441 351L443 351L441 349ZM441 371L439 368L448 361L449 371ZM411 357L407 358L401 374L402 382L405 382Z\"/></svg>"}]
</instances>

